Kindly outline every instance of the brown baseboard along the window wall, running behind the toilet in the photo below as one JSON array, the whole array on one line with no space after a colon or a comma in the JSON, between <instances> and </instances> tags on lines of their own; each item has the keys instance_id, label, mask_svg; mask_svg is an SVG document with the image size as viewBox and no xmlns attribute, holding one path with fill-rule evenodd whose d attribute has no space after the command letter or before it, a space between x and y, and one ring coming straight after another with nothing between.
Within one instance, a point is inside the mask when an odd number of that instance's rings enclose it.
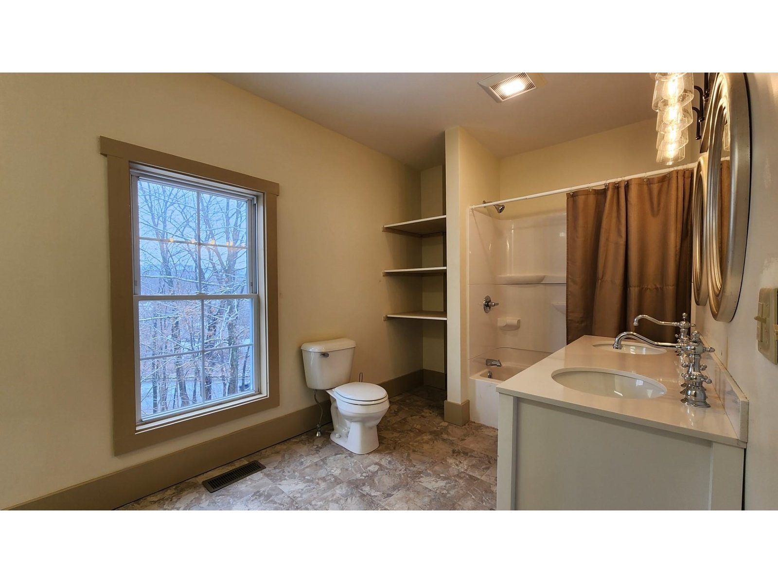
<instances>
[{"instance_id":1,"label":"brown baseboard along the window wall, running behind the toilet","mask_svg":"<svg viewBox=\"0 0 778 583\"><path fill-rule=\"evenodd\" d=\"M421 369L380 382L389 396L421 386ZM124 470L16 504L9 510L110 510L138 500L225 463L258 452L316 427L319 407L312 405L208 442L192 445ZM324 423L331 421L324 407Z\"/></svg>"}]
</instances>

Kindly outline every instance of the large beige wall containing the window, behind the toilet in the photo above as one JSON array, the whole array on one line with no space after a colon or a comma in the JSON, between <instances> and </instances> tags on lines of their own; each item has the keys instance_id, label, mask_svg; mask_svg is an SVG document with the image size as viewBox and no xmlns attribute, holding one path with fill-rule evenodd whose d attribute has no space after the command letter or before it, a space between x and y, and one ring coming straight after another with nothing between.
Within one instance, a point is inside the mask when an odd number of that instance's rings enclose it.
<instances>
[{"instance_id":1,"label":"large beige wall containing the window, behind the toilet","mask_svg":"<svg viewBox=\"0 0 778 583\"><path fill-rule=\"evenodd\" d=\"M106 160L98 136L273 180L279 198L281 405L115 457ZM352 374L422 367L382 315L420 284L384 278L419 244L419 173L211 75L0 75L0 508L314 403L300 344L356 340Z\"/></svg>"}]
</instances>

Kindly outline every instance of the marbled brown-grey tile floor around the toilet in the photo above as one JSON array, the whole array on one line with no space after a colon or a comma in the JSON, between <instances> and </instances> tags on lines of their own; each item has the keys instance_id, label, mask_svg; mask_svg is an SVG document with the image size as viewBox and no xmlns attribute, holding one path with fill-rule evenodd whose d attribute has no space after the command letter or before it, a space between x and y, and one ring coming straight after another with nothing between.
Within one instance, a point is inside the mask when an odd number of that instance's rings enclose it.
<instances>
[{"instance_id":1,"label":"marbled brown-grey tile floor around the toilet","mask_svg":"<svg viewBox=\"0 0 778 583\"><path fill-rule=\"evenodd\" d=\"M308 431L120 510L493 510L497 430L443 421L445 398L429 387L392 398L369 454ZM213 494L202 486L253 459L266 469Z\"/></svg>"}]
</instances>

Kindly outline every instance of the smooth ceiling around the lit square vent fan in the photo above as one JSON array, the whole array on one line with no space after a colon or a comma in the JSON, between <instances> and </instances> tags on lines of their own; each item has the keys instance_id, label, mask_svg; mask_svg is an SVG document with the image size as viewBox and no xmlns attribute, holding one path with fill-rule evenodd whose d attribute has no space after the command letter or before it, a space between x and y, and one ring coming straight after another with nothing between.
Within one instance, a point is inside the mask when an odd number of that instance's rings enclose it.
<instances>
[{"instance_id":1,"label":"smooth ceiling around the lit square vent fan","mask_svg":"<svg viewBox=\"0 0 778 583\"><path fill-rule=\"evenodd\" d=\"M417 169L443 163L461 126L498 158L654 116L647 73L544 73L546 86L497 103L493 73L218 73L217 77Z\"/></svg>"}]
</instances>

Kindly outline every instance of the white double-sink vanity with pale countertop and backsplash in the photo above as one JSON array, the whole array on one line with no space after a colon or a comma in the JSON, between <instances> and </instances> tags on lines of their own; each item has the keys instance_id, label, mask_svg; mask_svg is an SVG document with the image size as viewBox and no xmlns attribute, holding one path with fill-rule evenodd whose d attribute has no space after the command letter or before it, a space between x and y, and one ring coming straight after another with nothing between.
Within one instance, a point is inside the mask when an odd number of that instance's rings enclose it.
<instances>
[{"instance_id":1,"label":"white double-sink vanity with pale countertop and backsplash","mask_svg":"<svg viewBox=\"0 0 778 583\"><path fill-rule=\"evenodd\" d=\"M678 357L607 351L584 336L497 386L499 509L740 509L748 400L716 358L710 409L681 403ZM647 377L654 398L562 386L562 368Z\"/></svg>"}]
</instances>

